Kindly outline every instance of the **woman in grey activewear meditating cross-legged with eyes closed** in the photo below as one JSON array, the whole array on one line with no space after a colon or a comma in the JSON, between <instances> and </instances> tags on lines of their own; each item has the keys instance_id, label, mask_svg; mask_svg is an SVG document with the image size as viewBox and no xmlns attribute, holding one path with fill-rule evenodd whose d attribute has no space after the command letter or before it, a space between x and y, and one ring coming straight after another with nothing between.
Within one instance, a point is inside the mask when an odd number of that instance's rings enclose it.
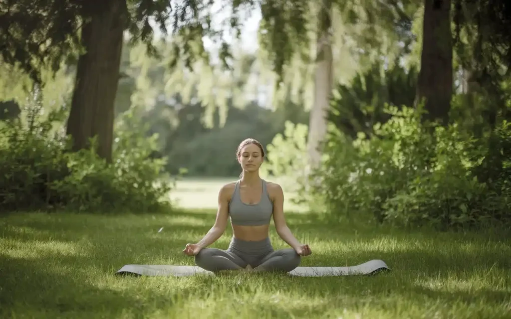
<instances>
[{"instance_id":1,"label":"woman in grey activewear meditating cross-legged with eyes closed","mask_svg":"<svg viewBox=\"0 0 511 319\"><path fill-rule=\"evenodd\" d=\"M263 146L248 138L236 153L243 172L240 180L224 185L218 194L215 224L198 243L189 243L184 254L195 256L195 263L208 271L247 269L290 272L300 264L300 256L312 254L291 234L284 218L284 193L280 185L259 177ZM268 237L270 218L278 235L291 249L274 251ZM227 250L206 248L225 231L230 216L233 238Z\"/></svg>"}]
</instances>

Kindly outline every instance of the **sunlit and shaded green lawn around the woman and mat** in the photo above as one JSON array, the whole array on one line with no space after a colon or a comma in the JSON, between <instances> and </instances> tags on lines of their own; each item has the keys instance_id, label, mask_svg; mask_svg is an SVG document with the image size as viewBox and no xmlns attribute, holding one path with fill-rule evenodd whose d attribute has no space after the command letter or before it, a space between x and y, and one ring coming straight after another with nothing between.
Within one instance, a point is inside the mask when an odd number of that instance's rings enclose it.
<instances>
[{"instance_id":1,"label":"sunlit and shaded green lawn around the woman and mat","mask_svg":"<svg viewBox=\"0 0 511 319\"><path fill-rule=\"evenodd\" d=\"M192 265L214 210L0 218L0 317L498 318L511 312L511 248L497 234L403 232L288 214L303 266L383 259L376 276L120 277L124 264ZM164 229L158 233L158 230ZM231 231L213 247L226 248ZM509 238L509 237L507 237ZM275 248L285 247L272 227Z\"/></svg>"}]
</instances>

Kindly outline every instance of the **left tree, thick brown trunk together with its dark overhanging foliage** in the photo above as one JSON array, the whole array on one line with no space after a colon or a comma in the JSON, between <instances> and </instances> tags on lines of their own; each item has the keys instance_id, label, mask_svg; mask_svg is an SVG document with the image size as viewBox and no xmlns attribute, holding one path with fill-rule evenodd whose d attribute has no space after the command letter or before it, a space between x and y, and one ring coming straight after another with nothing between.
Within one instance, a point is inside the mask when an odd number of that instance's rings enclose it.
<instances>
[{"instance_id":1,"label":"left tree, thick brown trunk together with its dark overhanging foliage","mask_svg":"<svg viewBox=\"0 0 511 319\"><path fill-rule=\"evenodd\" d=\"M300 17L304 16L306 3L268 0L261 4L269 31L266 44L274 53L272 62L277 73L282 73L295 44L304 38ZM156 54L149 20L153 18L164 34L172 21L173 34L180 37L176 48L181 50L177 53L190 67L195 60L208 58L201 43L203 36L219 35L208 12L213 4L199 0L6 0L0 4L0 49L7 63L19 64L39 83L43 66L57 70L63 60L76 59L67 133L73 137L75 150L87 147L88 139L97 135L98 152L109 160L124 31L129 30L133 42L146 43L149 54ZM233 10L228 20L236 30L240 27L238 9L253 7L255 2L225 0L221 4ZM191 45L193 40L198 45ZM225 62L228 46L222 43L222 48Z\"/></svg>"}]
</instances>

